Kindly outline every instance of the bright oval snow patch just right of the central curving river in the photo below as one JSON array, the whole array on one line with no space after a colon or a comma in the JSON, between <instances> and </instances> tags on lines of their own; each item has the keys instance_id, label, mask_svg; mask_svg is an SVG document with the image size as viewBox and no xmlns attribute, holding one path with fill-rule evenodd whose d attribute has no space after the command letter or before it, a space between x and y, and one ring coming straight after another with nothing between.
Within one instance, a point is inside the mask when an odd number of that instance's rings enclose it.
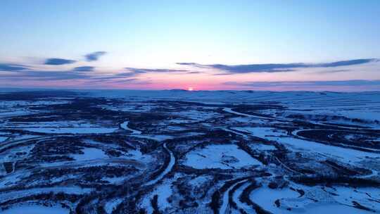
<instances>
[{"instance_id":1,"label":"bright oval snow patch just right of the central curving river","mask_svg":"<svg viewBox=\"0 0 380 214\"><path fill-rule=\"evenodd\" d=\"M184 165L196 169L234 169L252 165L262 165L234 144L209 145L186 154Z\"/></svg>"}]
</instances>

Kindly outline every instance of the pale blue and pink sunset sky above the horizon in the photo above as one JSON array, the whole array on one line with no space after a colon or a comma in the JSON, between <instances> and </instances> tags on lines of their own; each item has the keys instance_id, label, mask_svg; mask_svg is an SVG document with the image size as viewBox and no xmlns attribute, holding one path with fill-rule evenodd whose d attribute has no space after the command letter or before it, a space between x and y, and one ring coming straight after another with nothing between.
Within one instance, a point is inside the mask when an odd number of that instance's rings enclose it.
<instances>
[{"instance_id":1,"label":"pale blue and pink sunset sky above the horizon","mask_svg":"<svg viewBox=\"0 0 380 214\"><path fill-rule=\"evenodd\" d=\"M0 1L0 88L380 91L380 1Z\"/></svg>"}]
</instances>

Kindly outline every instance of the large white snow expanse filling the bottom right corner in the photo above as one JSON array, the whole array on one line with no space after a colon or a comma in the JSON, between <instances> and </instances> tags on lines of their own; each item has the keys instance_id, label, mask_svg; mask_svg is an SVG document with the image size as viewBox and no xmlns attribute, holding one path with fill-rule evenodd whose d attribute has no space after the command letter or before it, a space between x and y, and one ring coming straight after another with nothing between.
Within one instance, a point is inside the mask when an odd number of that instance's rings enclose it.
<instances>
[{"instance_id":1,"label":"large white snow expanse filling the bottom right corner","mask_svg":"<svg viewBox=\"0 0 380 214\"><path fill-rule=\"evenodd\" d=\"M265 182L265 181L264 181ZM290 189L303 189L305 194L300 196L297 191ZM271 213L371 213L353 207L352 201L357 201L367 208L378 212L380 206L369 199L379 199L379 190L374 187L308 187L291 182L289 187L283 189L270 189L267 186L259 187L250 194L254 203ZM279 199L279 208L274 201ZM287 210L291 208L291 210Z\"/></svg>"}]
</instances>

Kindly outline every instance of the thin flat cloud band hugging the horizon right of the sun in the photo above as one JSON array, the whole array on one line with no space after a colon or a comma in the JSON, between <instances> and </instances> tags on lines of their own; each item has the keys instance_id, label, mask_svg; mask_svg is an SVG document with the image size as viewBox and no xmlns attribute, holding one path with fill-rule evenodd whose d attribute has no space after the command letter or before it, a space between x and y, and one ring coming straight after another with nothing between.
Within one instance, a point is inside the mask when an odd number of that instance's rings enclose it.
<instances>
[{"instance_id":1,"label":"thin flat cloud band hugging the horizon right of the sun","mask_svg":"<svg viewBox=\"0 0 380 214\"><path fill-rule=\"evenodd\" d=\"M280 87L372 87L379 86L380 80L329 80L329 81L280 81L280 82L224 82L226 85L245 88Z\"/></svg>"}]
</instances>

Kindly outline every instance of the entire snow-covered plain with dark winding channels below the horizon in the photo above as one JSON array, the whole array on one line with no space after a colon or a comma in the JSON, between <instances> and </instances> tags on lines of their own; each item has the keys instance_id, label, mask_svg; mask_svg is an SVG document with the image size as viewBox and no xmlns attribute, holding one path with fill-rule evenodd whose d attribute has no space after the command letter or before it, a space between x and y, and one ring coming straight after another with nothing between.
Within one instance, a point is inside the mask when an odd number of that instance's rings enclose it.
<instances>
[{"instance_id":1,"label":"entire snow-covered plain with dark winding channels below the horizon","mask_svg":"<svg viewBox=\"0 0 380 214\"><path fill-rule=\"evenodd\" d=\"M20 93L0 213L380 212L380 92Z\"/></svg>"}]
</instances>

